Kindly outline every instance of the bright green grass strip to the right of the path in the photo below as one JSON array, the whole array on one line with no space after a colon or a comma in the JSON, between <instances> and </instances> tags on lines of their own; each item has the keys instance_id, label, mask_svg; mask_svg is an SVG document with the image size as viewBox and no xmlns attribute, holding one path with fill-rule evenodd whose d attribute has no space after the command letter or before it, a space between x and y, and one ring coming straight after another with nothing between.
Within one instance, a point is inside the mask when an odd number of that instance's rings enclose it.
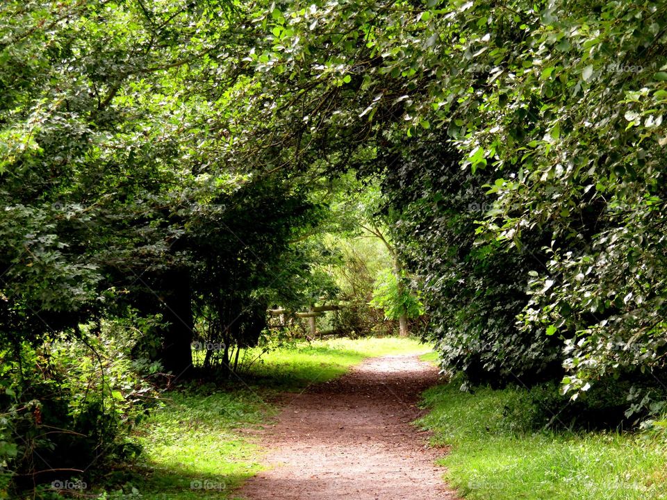
<instances>
[{"instance_id":1,"label":"bright green grass strip to the right of the path","mask_svg":"<svg viewBox=\"0 0 667 500\"><path fill-rule=\"evenodd\" d=\"M425 392L418 421L451 446L445 478L471 500L654 500L667 498L667 453L631 433L529 432L503 415L521 389L459 384Z\"/></svg>"}]
</instances>

